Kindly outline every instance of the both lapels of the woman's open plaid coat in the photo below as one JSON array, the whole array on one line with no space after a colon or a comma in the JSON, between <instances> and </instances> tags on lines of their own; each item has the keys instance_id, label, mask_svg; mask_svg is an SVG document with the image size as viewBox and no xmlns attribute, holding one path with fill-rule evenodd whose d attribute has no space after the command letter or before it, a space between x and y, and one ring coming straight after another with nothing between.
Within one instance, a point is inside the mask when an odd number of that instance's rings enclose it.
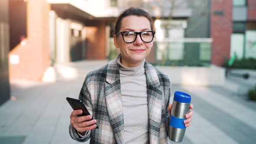
<instances>
[{"instance_id":1,"label":"both lapels of the woman's open plaid coat","mask_svg":"<svg viewBox=\"0 0 256 144\"><path fill-rule=\"evenodd\" d=\"M123 144L125 143L124 117L121 102L120 74L117 64L117 60L120 56L121 55L108 63L105 82L105 99L115 139L118 144ZM148 95L149 140L151 144L158 144L161 124L163 86L159 82L156 69L154 69L151 64L145 62L144 68Z\"/></svg>"}]
</instances>

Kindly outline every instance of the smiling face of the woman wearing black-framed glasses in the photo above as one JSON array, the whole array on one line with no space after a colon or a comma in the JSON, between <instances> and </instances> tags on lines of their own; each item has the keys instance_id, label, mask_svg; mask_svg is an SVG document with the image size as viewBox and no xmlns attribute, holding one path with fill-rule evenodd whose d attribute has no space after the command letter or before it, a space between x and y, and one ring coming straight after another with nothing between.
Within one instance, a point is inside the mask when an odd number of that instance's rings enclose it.
<instances>
[{"instance_id":1,"label":"smiling face of the woman wearing black-framed glasses","mask_svg":"<svg viewBox=\"0 0 256 144\"><path fill-rule=\"evenodd\" d=\"M144 16L126 16L121 21L120 32L124 31L151 31L149 20ZM114 35L115 47L120 49L121 64L125 67L135 67L140 65L146 56L148 56L153 46L153 41L145 43L138 35L133 43L125 43L122 35Z\"/></svg>"}]
</instances>

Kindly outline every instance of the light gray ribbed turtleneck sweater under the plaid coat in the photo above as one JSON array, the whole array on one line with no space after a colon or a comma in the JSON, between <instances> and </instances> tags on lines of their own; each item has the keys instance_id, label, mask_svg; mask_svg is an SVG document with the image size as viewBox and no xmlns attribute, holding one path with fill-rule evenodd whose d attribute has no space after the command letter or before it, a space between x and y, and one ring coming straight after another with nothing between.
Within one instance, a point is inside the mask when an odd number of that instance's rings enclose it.
<instances>
[{"instance_id":1,"label":"light gray ribbed turtleneck sweater under the plaid coat","mask_svg":"<svg viewBox=\"0 0 256 144\"><path fill-rule=\"evenodd\" d=\"M149 144L148 98L144 62L137 67L127 68L121 64L121 59L118 59L125 144Z\"/></svg>"}]
</instances>

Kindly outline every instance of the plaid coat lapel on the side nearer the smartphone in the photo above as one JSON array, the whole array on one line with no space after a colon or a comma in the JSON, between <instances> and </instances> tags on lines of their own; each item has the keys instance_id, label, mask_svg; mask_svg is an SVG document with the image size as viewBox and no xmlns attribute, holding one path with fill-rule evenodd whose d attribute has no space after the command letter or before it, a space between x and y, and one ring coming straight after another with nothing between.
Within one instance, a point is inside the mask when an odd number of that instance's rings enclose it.
<instances>
[{"instance_id":1,"label":"plaid coat lapel on the side nearer the smartphone","mask_svg":"<svg viewBox=\"0 0 256 144\"><path fill-rule=\"evenodd\" d=\"M121 102L120 74L117 65L119 56L108 63L105 82L105 99L115 139L118 144L124 144L124 117Z\"/></svg>"}]
</instances>

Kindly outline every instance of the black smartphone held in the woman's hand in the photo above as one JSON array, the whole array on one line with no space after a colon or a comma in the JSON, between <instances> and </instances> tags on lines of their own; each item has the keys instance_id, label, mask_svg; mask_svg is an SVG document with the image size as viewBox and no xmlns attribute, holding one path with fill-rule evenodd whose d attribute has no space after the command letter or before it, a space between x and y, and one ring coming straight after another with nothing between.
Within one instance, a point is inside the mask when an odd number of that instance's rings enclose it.
<instances>
[{"instance_id":1,"label":"black smartphone held in the woman's hand","mask_svg":"<svg viewBox=\"0 0 256 144\"><path fill-rule=\"evenodd\" d=\"M81 100L79 99L75 99L75 98L69 98L67 97L66 100L69 102L69 105L71 105L71 107L73 108L73 110L78 110L78 109L81 109L83 111L83 113L81 115L78 115L79 117L80 116L85 116L85 115L91 115L89 113L89 111L87 110L87 108L85 107L85 105L82 103ZM93 118L91 119L93 120ZM90 120L89 120L90 121ZM97 125L97 124L96 124ZM98 125L97 127L98 128Z\"/></svg>"}]
</instances>

